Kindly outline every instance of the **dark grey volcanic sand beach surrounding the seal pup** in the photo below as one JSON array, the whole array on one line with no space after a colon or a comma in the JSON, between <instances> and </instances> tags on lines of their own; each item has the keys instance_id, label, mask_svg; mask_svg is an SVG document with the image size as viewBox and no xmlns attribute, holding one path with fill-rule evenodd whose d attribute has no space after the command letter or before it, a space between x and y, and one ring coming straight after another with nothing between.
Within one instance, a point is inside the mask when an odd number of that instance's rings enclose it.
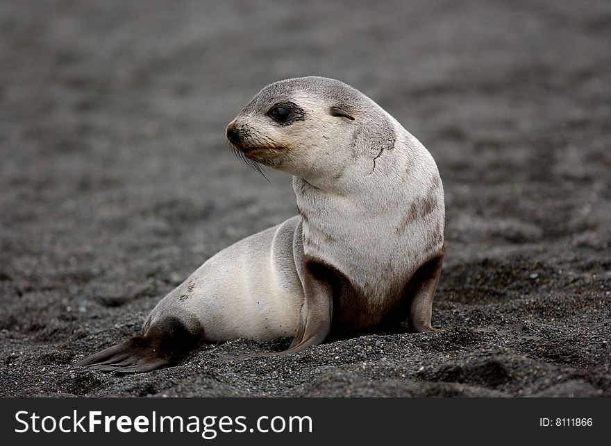
<instances>
[{"instance_id":1,"label":"dark grey volcanic sand beach surrounding the seal pup","mask_svg":"<svg viewBox=\"0 0 611 446\"><path fill-rule=\"evenodd\" d=\"M611 395L608 1L203 3L0 3L0 395ZM240 164L224 130L308 74L361 89L435 156L445 331L75 368L295 213L290 179Z\"/></svg>"}]
</instances>

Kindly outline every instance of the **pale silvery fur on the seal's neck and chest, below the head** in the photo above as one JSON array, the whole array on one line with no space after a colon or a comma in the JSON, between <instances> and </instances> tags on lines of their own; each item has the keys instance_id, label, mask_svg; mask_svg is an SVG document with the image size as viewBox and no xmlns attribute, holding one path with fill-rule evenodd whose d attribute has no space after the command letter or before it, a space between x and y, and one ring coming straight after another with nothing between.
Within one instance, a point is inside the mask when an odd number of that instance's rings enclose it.
<instances>
[{"instance_id":1,"label":"pale silvery fur on the seal's neck and chest, below the head","mask_svg":"<svg viewBox=\"0 0 611 446\"><path fill-rule=\"evenodd\" d=\"M438 173L417 139L398 123L394 130L400 137L393 153L379 157L373 171L371 158L347 163L337 187L328 191L293 178L297 205L308 215L303 223L305 255L324 259L380 299L399 277L415 272L442 248L442 243L427 246L433 223L444 218L442 187L435 189L441 205L396 231L406 209L428 191ZM408 164L415 164L413 175L405 178ZM304 183L311 193L298 194Z\"/></svg>"}]
</instances>

